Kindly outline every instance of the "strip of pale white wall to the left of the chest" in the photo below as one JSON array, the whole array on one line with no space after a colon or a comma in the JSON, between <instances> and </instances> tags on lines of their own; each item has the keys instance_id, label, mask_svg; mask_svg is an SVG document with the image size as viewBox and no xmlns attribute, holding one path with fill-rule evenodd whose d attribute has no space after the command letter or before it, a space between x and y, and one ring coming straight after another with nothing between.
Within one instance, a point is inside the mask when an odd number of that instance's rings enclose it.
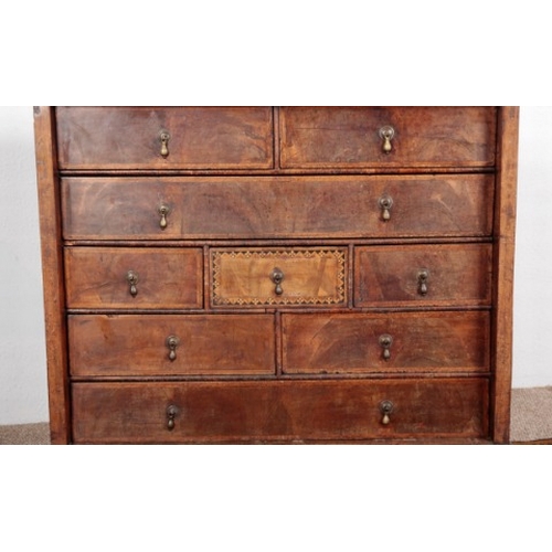
<instances>
[{"instance_id":1,"label":"strip of pale white wall to the left of the chest","mask_svg":"<svg viewBox=\"0 0 552 552\"><path fill-rule=\"evenodd\" d=\"M32 107L0 107L0 424L47 421Z\"/></svg>"}]
</instances>

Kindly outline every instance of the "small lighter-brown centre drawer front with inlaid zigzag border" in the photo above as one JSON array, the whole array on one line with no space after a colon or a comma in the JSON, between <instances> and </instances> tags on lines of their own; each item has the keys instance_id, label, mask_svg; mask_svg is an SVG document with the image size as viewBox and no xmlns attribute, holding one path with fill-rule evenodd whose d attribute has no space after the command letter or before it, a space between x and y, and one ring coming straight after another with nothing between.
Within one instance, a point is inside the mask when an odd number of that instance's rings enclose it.
<instances>
[{"instance_id":1,"label":"small lighter-brown centre drawer front with inlaid zigzag border","mask_svg":"<svg viewBox=\"0 0 552 552\"><path fill-rule=\"evenodd\" d=\"M344 248L211 250L213 306L343 306Z\"/></svg>"}]
</instances>

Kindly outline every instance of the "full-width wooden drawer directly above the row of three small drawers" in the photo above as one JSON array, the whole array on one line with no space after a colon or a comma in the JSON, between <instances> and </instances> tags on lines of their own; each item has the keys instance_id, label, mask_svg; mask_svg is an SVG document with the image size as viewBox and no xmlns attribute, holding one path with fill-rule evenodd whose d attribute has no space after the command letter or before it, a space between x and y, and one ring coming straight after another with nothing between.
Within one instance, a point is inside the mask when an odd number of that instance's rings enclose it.
<instances>
[{"instance_id":1,"label":"full-width wooden drawer directly above the row of three small drawers","mask_svg":"<svg viewBox=\"0 0 552 552\"><path fill-rule=\"evenodd\" d=\"M492 174L65 178L63 234L67 240L488 236L493 194Z\"/></svg>"}]
</instances>

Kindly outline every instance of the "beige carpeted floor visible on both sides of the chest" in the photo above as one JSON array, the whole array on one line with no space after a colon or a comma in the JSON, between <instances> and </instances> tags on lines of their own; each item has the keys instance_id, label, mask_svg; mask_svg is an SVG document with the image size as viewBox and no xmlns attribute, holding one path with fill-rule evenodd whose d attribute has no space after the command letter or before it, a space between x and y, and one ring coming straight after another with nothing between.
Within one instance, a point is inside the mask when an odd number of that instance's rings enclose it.
<instances>
[{"instance_id":1,"label":"beige carpeted floor visible on both sides of the chest","mask_svg":"<svg viewBox=\"0 0 552 552\"><path fill-rule=\"evenodd\" d=\"M0 445L50 445L49 432L47 423L0 425ZM510 437L552 445L552 386L512 390Z\"/></svg>"}]
</instances>

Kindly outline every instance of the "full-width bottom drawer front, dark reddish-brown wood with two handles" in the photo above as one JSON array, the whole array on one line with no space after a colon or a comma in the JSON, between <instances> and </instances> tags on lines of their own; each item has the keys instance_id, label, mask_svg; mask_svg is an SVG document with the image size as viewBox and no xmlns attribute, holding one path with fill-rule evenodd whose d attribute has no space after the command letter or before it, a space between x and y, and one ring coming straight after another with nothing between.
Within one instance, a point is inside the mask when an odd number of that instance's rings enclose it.
<instances>
[{"instance_id":1,"label":"full-width bottom drawer front, dark reddish-brown wood with two handles","mask_svg":"<svg viewBox=\"0 0 552 552\"><path fill-rule=\"evenodd\" d=\"M76 443L488 435L485 379L75 383L72 395Z\"/></svg>"}]
</instances>

